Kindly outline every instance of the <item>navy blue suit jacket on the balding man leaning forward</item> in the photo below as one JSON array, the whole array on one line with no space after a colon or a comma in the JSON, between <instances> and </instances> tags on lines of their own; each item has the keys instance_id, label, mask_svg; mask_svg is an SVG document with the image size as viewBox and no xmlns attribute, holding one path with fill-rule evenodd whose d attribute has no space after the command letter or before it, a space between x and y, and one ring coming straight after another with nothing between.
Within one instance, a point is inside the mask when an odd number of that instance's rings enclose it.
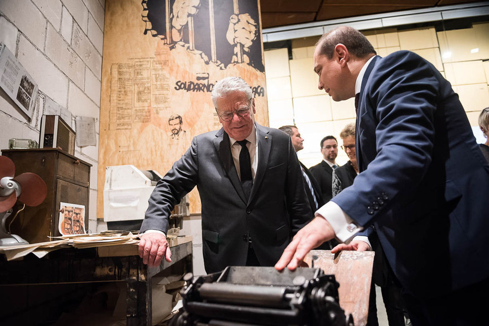
<instances>
[{"instance_id":1,"label":"navy blue suit jacket on the balding man leaning forward","mask_svg":"<svg viewBox=\"0 0 489 326\"><path fill-rule=\"evenodd\" d=\"M418 55L376 57L357 115L361 173L333 201L374 224L404 288L433 297L489 277L489 166L451 85Z\"/></svg>"}]
</instances>

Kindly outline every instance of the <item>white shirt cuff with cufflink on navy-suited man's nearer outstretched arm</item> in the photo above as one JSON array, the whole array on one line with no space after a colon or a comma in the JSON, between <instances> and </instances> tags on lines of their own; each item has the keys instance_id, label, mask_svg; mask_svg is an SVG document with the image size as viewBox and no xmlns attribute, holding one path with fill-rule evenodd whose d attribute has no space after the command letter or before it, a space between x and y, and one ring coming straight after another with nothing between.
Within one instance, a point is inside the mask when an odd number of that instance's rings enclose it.
<instances>
[{"instance_id":1,"label":"white shirt cuff with cufflink on navy-suited man's nearer outstretched arm","mask_svg":"<svg viewBox=\"0 0 489 326\"><path fill-rule=\"evenodd\" d=\"M314 215L324 217L335 231L336 237L344 243L352 241L355 234L363 229L337 203L331 200L316 210Z\"/></svg>"}]
</instances>

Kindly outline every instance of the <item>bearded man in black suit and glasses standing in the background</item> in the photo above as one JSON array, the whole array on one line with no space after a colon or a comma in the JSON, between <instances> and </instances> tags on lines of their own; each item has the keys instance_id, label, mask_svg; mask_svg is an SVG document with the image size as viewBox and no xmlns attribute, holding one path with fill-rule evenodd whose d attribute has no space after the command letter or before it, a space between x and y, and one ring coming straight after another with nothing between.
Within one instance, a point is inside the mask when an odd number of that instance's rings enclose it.
<instances>
[{"instance_id":1,"label":"bearded man in black suit and glasses standing in the background","mask_svg":"<svg viewBox=\"0 0 489 326\"><path fill-rule=\"evenodd\" d=\"M321 187L322 198L328 202L331 193L333 170L338 167L336 157L338 156L338 141L334 136L326 136L321 139L321 163L311 166L310 171Z\"/></svg>"}]
</instances>

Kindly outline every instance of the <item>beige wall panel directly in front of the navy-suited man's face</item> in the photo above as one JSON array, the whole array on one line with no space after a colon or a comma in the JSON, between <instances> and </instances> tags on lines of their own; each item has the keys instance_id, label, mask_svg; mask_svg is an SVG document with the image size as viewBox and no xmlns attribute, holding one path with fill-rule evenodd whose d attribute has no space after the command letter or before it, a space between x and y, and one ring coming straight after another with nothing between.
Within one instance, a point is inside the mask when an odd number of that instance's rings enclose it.
<instances>
[{"instance_id":1,"label":"beige wall panel directly in front of the navy-suited man's face","mask_svg":"<svg viewBox=\"0 0 489 326\"><path fill-rule=\"evenodd\" d=\"M289 64L293 97L324 94L323 90L317 88L318 79L312 58L290 60Z\"/></svg>"}]
</instances>

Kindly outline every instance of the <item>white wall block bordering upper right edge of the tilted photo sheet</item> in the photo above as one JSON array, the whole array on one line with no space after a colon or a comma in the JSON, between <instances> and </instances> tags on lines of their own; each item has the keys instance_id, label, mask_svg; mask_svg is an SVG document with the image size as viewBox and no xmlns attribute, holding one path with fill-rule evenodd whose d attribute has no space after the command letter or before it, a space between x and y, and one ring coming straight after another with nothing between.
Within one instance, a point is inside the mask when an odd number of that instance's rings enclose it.
<instances>
[{"instance_id":1,"label":"white wall block bordering upper right edge of the tilted photo sheet","mask_svg":"<svg viewBox=\"0 0 489 326\"><path fill-rule=\"evenodd\" d=\"M59 105L66 107L68 78L23 36L19 40L17 59L36 81L42 92Z\"/></svg>"}]
</instances>

